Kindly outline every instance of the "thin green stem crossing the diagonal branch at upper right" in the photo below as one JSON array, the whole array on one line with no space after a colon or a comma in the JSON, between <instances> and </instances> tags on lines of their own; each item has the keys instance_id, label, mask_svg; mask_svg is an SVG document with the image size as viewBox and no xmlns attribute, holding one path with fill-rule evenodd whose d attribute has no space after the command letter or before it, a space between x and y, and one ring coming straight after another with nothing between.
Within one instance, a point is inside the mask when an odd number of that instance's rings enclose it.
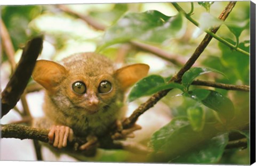
<instances>
[{"instance_id":1,"label":"thin green stem crossing the diagonal branch at upper right","mask_svg":"<svg viewBox=\"0 0 256 166\"><path fill-rule=\"evenodd\" d=\"M186 17L190 22L192 22L193 24L195 24L195 26L199 27L199 23L198 23L196 20L194 20L193 18L191 18L190 14L189 14L189 13L186 13L186 12L180 7L180 5L178 5L178 3L173 2L172 5L175 7L175 9L177 9L178 12L184 14L185 17ZM223 43L223 44L229 46L230 48L235 49L236 51L238 51L238 52L240 52L240 53L242 53L242 54L244 54L244 55L250 56L250 53L244 51L244 50L241 49L241 48L238 48L236 45L233 45L233 44L229 43L227 40L221 38L220 36L216 35L216 34L213 33L212 31L210 31L210 30L204 30L204 31L205 31L207 34L211 35L213 38L219 40L221 43Z\"/></svg>"}]
</instances>

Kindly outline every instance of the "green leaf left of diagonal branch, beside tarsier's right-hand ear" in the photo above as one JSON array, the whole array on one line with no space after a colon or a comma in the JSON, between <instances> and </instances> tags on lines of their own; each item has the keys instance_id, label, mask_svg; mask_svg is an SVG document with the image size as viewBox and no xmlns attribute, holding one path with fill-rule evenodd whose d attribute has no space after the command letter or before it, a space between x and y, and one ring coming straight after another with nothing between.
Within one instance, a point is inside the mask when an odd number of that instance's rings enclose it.
<instances>
[{"instance_id":1,"label":"green leaf left of diagonal branch, beside tarsier's right-hand ear","mask_svg":"<svg viewBox=\"0 0 256 166\"><path fill-rule=\"evenodd\" d=\"M161 90L171 88L179 88L183 90L184 87L174 82L168 84L163 77L151 75L141 79L133 86L131 93L128 96L128 101L132 102L139 97L153 95Z\"/></svg>"}]
</instances>

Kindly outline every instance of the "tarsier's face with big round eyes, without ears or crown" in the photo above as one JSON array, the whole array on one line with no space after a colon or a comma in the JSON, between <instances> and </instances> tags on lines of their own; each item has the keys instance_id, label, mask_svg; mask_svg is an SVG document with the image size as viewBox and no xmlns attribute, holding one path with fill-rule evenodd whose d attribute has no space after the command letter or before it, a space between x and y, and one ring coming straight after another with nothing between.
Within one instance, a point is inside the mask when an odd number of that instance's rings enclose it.
<instances>
[{"instance_id":1,"label":"tarsier's face with big round eyes, without ears or crown","mask_svg":"<svg viewBox=\"0 0 256 166\"><path fill-rule=\"evenodd\" d=\"M76 75L65 80L65 89L67 97L77 109L93 114L116 102L117 84L109 73L93 77Z\"/></svg>"}]
</instances>

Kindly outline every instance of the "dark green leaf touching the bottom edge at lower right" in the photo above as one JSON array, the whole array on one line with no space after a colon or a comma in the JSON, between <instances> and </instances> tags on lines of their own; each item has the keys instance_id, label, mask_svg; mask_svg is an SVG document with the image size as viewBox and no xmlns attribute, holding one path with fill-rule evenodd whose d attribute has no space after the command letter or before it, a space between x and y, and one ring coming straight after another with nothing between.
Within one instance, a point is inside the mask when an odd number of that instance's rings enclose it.
<instances>
[{"instance_id":1,"label":"dark green leaf touching the bottom edge at lower right","mask_svg":"<svg viewBox=\"0 0 256 166\"><path fill-rule=\"evenodd\" d=\"M203 146L197 147L196 150L181 155L178 159L171 162L175 163L200 163L210 164L218 163L228 143L228 134L222 134L213 137Z\"/></svg>"}]
</instances>

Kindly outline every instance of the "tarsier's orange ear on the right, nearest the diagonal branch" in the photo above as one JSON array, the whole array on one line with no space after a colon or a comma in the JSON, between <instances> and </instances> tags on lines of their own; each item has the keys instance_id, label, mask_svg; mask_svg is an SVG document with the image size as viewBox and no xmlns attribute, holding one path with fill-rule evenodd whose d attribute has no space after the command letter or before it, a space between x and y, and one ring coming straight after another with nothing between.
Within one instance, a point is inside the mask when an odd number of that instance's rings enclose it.
<instances>
[{"instance_id":1,"label":"tarsier's orange ear on the right, nearest the diagonal branch","mask_svg":"<svg viewBox=\"0 0 256 166\"><path fill-rule=\"evenodd\" d=\"M135 82L139 81L148 74L149 65L147 64L132 64L116 71L116 78L120 82L121 89L126 90Z\"/></svg>"}]
</instances>

